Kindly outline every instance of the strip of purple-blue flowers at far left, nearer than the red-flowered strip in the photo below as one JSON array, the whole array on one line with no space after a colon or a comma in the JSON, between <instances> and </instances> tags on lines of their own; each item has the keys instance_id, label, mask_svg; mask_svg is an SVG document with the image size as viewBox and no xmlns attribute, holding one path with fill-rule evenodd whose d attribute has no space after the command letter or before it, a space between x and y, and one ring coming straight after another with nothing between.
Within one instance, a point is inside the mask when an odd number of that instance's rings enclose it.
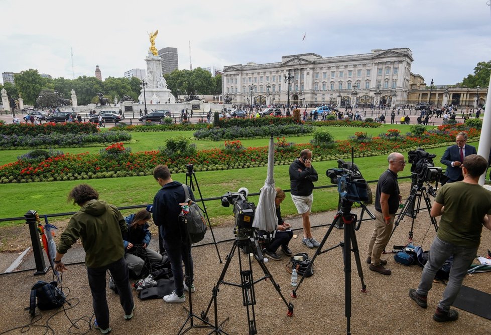
<instances>
[{"instance_id":1,"label":"strip of purple-blue flowers at far left, nearer than the red-flowered strip","mask_svg":"<svg viewBox=\"0 0 491 335\"><path fill-rule=\"evenodd\" d=\"M34 149L47 147L83 147L94 143L113 143L131 140L126 132L105 131L98 133L79 133L67 136L64 133L31 135L0 135L3 149Z\"/></svg>"}]
</instances>

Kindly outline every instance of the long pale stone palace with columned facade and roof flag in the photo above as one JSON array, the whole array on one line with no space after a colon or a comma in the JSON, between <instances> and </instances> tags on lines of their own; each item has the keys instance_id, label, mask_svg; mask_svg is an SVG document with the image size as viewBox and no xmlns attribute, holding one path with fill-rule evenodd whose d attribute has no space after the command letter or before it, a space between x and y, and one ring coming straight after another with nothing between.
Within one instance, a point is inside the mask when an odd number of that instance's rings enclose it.
<instances>
[{"instance_id":1,"label":"long pale stone palace with columned facade and roof flag","mask_svg":"<svg viewBox=\"0 0 491 335\"><path fill-rule=\"evenodd\" d=\"M409 48L322 57L314 53L283 56L281 62L228 65L222 94L233 104L396 105L411 88ZM424 79L423 79L424 80Z\"/></svg>"}]
</instances>

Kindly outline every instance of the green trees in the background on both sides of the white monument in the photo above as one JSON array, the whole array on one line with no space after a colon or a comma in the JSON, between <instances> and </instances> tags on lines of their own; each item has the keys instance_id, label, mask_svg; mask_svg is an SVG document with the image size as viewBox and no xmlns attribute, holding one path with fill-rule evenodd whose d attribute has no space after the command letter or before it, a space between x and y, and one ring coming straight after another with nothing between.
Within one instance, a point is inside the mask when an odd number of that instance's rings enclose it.
<instances>
[{"instance_id":1,"label":"green trees in the background on both sides of the white monument","mask_svg":"<svg viewBox=\"0 0 491 335\"><path fill-rule=\"evenodd\" d=\"M212 77L211 73L201 68L193 71L174 70L164 77L176 99L178 95L184 94L221 94L221 76ZM72 89L75 90L79 105L98 103L98 92L110 101L114 100L114 96L121 99L124 95L138 101L142 81L137 77L108 77L104 81L87 76L52 79L43 78L38 70L29 69L15 74L14 83L0 84L0 89L5 88L9 99L17 100L22 96L25 104L48 107L57 106L60 97L71 99Z\"/></svg>"}]
</instances>

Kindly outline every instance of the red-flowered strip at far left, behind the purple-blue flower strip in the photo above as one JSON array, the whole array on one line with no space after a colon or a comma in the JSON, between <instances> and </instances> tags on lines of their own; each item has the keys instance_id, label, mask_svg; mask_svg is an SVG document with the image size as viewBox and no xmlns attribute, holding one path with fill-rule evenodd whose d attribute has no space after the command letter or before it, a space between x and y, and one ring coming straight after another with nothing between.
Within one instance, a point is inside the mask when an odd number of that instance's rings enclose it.
<instances>
[{"instance_id":1,"label":"red-flowered strip at far left, behind the purple-blue flower strip","mask_svg":"<svg viewBox=\"0 0 491 335\"><path fill-rule=\"evenodd\" d=\"M30 135L62 133L62 134L93 134L99 131L96 123L87 122L48 122L43 124L11 123L0 124L0 135Z\"/></svg>"}]
</instances>

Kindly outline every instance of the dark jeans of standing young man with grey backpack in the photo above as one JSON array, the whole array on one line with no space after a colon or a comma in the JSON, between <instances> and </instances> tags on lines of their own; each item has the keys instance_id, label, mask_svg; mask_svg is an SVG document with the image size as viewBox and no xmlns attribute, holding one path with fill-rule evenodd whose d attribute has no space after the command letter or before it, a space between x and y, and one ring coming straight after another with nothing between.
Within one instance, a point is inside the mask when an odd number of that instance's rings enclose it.
<instances>
[{"instance_id":1,"label":"dark jeans of standing young man with grey backpack","mask_svg":"<svg viewBox=\"0 0 491 335\"><path fill-rule=\"evenodd\" d=\"M172 275L174 276L174 285L176 286L177 296L184 294L184 274L182 263L186 276L189 276L191 283L194 281L193 257L191 255L191 244L181 244L178 248L165 248L167 256L171 262Z\"/></svg>"}]
</instances>

